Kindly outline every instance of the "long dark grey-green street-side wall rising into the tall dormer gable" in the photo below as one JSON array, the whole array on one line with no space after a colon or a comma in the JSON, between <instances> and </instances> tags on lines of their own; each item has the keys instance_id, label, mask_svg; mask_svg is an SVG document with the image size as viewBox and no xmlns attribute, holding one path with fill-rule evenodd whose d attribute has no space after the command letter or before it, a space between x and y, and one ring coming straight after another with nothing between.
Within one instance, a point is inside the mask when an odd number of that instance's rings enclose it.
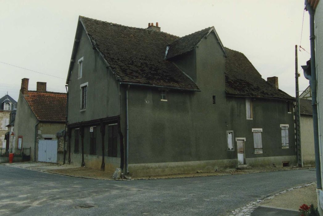
<instances>
[{"instance_id":1,"label":"long dark grey-green street-side wall rising into the tall dormer gable","mask_svg":"<svg viewBox=\"0 0 323 216\"><path fill-rule=\"evenodd\" d=\"M161 101L160 89L130 86L129 163L236 159L235 141L234 151L227 150L227 130L234 131L234 138L246 138L246 158L295 155L294 120L287 102L252 100L254 118L246 119L245 98L225 94L225 58L215 35L204 38L195 53L201 92L169 90L168 101ZM192 65L182 57L175 62L183 70ZM281 148L280 124L289 125L288 149ZM252 128L263 129L262 154L254 153Z\"/></svg>"}]
</instances>

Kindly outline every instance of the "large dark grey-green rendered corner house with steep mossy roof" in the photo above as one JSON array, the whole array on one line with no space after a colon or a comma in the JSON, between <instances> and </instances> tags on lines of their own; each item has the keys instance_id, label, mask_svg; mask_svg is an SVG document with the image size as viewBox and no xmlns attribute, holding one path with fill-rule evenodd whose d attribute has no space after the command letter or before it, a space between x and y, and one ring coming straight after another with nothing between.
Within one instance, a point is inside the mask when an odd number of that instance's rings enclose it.
<instances>
[{"instance_id":1,"label":"large dark grey-green rendered corner house with steep mossy roof","mask_svg":"<svg viewBox=\"0 0 323 216\"><path fill-rule=\"evenodd\" d=\"M293 101L214 27L177 37L79 17L69 160L131 175L296 164Z\"/></svg>"}]
</instances>

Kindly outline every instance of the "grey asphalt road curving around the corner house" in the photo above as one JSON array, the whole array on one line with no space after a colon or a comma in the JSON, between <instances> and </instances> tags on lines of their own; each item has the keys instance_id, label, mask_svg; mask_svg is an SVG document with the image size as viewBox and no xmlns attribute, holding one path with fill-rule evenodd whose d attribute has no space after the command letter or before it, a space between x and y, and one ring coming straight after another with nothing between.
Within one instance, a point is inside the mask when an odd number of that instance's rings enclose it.
<instances>
[{"instance_id":1,"label":"grey asphalt road curving around the corner house","mask_svg":"<svg viewBox=\"0 0 323 216\"><path fill-rule=\"evenodd\" d=\"M315 180L314 169L113 181L0 166L0 214L227 215L250 201Z\"/></svg>"}]
</instances>

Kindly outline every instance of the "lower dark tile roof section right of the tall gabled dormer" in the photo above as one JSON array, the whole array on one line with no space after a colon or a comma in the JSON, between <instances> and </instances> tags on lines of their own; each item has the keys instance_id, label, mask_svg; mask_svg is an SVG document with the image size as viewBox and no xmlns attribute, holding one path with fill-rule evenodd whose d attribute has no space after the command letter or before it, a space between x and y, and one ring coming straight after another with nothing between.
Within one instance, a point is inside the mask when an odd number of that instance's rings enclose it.
<instances>
[{"instance_id":1,"label":"lower dark tile roof section right of the tall gabled dormer","mask_svg":"<svg viewBox=\"0 0 323 216\"><path fill-rule=\"evenodd\" d=\"M225 48L225 91L229 95L295 100L264 80L241 52Z\"/></svg>"}]
</instances>

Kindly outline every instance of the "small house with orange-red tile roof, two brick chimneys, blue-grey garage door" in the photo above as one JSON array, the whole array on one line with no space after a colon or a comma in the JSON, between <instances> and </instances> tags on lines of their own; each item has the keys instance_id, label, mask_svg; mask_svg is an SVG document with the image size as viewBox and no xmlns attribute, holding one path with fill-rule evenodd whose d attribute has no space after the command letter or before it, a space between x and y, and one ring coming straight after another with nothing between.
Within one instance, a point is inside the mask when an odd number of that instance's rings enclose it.
<instances>
[{"instance_id":1,"label":"small house with orange-red tile roof, two brick chimneys, blue-grey garage door","mask_svg":"<svg viewBox=\"0 0 323 216\"><path fill-rule=\"evenodd\" d=\"M28 82L27 78L21 82L14 149L30 148L31 160L56 162L57 132L65 129L66 93L48 92L45 82L37 82L37 90L29 91Z\"/></svg>"}]
</instances>

